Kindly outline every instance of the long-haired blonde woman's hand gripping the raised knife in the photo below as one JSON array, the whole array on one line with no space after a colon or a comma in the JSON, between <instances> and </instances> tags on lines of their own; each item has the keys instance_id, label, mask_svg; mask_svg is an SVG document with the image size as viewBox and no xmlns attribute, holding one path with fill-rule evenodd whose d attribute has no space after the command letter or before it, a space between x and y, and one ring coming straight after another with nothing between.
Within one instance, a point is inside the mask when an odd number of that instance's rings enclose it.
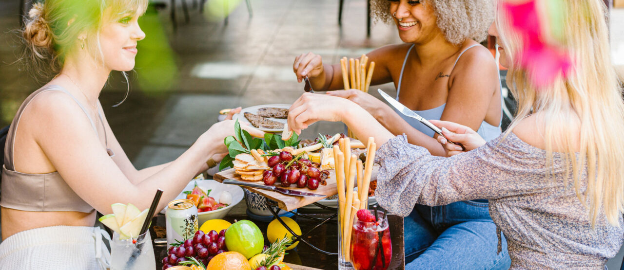
<instances>
[{"instance_id":1,"label":"long-haired blonde woman's hand gripping the raised knife","mask_svg":"<svg viewBox=\"0 0 624 270\"><path fill-rule=\"evenodd\" d=\"M466 151L470 151L472 149L479 148L480 146L485 144L485 140L479 136L474 130L467 126L462 126L461 124L449 122L449 121L438 121L438 120L429 120L432 124L442 129L442 134L444 137L451 140L455 143L462 144ZM452 144L448 142L447 139L444 139L442 136L437 136L437 141L444 146L444 150L447 153L447 156L454 156L459 154L462 151L461 146L457 146L456 144Z\"/></svg>"}]
</instances>

